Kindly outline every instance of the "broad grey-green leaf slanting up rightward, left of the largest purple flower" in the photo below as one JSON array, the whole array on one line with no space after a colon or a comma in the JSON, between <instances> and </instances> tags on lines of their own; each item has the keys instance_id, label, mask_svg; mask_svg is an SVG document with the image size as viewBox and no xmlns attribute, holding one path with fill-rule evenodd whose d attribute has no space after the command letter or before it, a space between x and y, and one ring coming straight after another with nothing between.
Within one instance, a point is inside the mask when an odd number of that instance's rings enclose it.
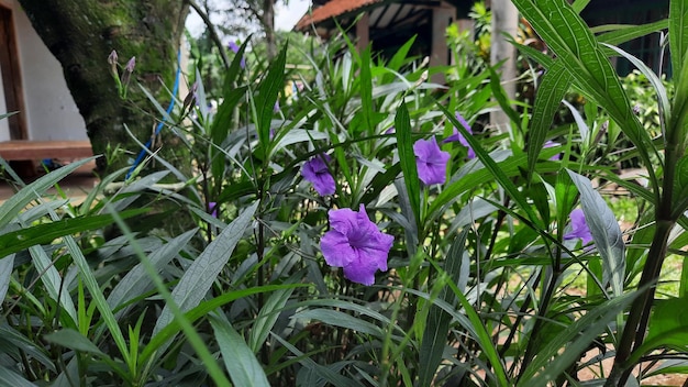
<instances>
[{"instance_id":1,"label":"broad grey-green leaf slanting up rightward, left of the largest purple flower","mask_svg":"<svg viewBox=\"0 0 688 387\"><path fill-rule=\"evenodd\" d=\"M253 221L253 214L258 208L258 202L249 206L222 233L212 241L208 247L191 263L184 276L171 292L171 297L181 311L187 311L206 297L206 294L214 283L220 270L226 265L234 247L244 236L244 231ZM173 312L165 306L160 317L155 323L153 335L173 320Z\"/></svg>"}]
</instances>

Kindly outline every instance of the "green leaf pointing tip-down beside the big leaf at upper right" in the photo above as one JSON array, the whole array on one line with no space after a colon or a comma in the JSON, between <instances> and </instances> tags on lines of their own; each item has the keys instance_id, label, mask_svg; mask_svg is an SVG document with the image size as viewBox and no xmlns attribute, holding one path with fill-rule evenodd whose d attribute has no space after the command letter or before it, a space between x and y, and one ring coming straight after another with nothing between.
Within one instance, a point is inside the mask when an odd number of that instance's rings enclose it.
<instances>
[{"instance_id":1,"label":"green leaf pointing tip-down beside the big leaf at upper right","mask_svg":"<svg viewBox=\"0 0 688 387\"><path fill-rule=\"evenodd\" d=\"M547 139L550 126L572 82L573 78L561 59L554 60L542 77L542 84L535 97L531 128L528 131L529 175L535 170L535 164Z\"/></svg>"}]
</instances>

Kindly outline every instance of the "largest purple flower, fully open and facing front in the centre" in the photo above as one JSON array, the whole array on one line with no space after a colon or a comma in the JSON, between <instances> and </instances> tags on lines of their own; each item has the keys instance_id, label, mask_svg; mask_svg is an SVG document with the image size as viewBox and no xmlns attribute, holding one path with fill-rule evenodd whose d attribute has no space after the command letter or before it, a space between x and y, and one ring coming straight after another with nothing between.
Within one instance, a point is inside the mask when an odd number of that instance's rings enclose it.
<instances>
[{"instance_id":1,"label":"largest purple flower, fully open and facing front in the centre","mask_svg":"<svg viewBox=\"0 0 688 387\"><path fill-rule=\"evenodd\" d=\"M375 283L375 272L387 270L387 257L395 241L368 219L366 208L330 210L330 225L320 248L330 266L343 267L344 276L363 285Z\"/></svg>"}]
</instances>

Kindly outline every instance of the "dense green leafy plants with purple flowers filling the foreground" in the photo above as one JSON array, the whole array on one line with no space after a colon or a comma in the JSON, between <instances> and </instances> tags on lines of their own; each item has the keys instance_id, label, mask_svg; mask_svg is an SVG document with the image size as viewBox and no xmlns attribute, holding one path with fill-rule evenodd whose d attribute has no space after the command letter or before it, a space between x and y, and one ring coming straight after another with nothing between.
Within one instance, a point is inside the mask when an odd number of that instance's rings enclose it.
<instances>
[{"instance_id":1,"label":"dense green leafy plants with purple flowers filling the foreground","mask_svg":"<svg viewBox=\"0 0 688 387\"><path fill-rule=\"evenodd\" d=\"M190 176L144 140L140 163L76 204L46 190L88 161L29 185L0 161L18 188L0 204L1 384L639 386L688 374L688 3L589 29L586 0L513 2L542 43L513 42L534 101L509 100L465 37L456 66L429 68L413 41L379 58L342 33L302 52L306 73L287 66L288 45L268 64L246 40L222 48L222 86L192 70L170 109L148 93ZM669 79L619 48L653 33ZM103 68L119 87L146 93L116 60ZM437 73L446 85L429 81ZM490 129L493 109L508 133ZM641 176L620 177L626 165ZM182 212L193 223L170 234Z\"/></svg>"}]
</instances>

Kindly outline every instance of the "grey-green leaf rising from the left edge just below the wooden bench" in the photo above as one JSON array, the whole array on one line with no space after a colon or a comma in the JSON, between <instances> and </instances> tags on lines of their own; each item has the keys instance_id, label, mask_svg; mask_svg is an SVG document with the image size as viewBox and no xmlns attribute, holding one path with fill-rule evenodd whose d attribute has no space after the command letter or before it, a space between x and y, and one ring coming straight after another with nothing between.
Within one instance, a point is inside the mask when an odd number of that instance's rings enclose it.
<instances>
[{"instance_id":1,"label":"grey-green leaf rising from the left edge just below the wooden bench","mask_svg":"<svg viewBox=\"0 0 688 387\"><path fill-rule=\"evenodd\" d=\"M42 176L34 183L22 188L19 192L12 195L2 206L0 206L0 226L3 226L14 217L16 217L26 204L35 200L43 195L48 188L53 187L57 181L62 180L65 176L71 174L84 164L92 161L96 157L85 158L75 163L67 164L66 166L53 170L49 174Z\"/></svg>"}]
</instances>

